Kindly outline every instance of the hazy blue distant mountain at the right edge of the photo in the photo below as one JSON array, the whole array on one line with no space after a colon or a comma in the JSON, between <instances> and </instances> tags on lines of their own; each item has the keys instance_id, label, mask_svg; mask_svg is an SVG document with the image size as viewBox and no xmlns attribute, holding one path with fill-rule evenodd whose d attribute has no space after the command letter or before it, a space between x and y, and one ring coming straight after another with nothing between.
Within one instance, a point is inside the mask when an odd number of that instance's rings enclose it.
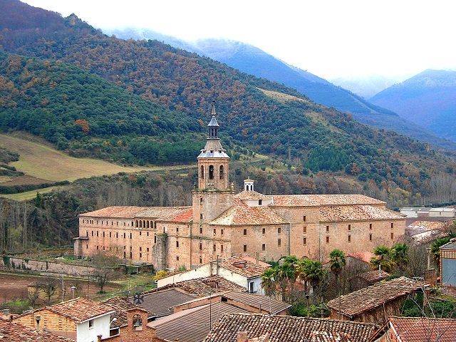
<instances>
[{"instance_id":1,"label":"hazy blue distant mountain at the right edge of the photo","mask_svg":"<svg viewBox=\"0 0 456 342\"><path fill-rule=\"evenodd\" d=\"M423 71L370 100L439 137L456 141L456 71Z\"/></svg>"}]
</instances>

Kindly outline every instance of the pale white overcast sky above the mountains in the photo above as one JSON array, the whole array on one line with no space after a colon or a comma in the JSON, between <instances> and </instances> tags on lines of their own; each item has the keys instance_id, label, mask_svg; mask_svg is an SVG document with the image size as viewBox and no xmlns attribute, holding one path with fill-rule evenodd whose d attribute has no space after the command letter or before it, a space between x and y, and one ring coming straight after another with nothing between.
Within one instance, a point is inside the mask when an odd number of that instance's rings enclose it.
<instances>
[{"instance_id":1,"label":"pale white overcast sky above the mountains","mask_svg":"<svg viewBox=\"0 0 456 342\"><path fill-rule=\"evenodd\" d=\"M449 0L23 1L74 13L95 28L243 41L326 79L456 66L456 3Z\"/></svg>"}]
</instances>

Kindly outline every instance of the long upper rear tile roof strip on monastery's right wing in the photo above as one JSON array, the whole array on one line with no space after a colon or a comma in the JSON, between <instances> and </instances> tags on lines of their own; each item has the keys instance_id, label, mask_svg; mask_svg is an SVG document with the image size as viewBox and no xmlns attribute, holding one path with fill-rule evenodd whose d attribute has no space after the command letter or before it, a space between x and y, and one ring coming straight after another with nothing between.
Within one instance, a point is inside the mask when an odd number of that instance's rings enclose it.
<instances>
[{"instance_id":1,"label":"long upper rear tile roof strip on monastery's right wing","mask_svg":"<svg viewBox=\"0 0 456 342\"><path fill-rule=\"evenodd\" d=\"M321 205L383 204L386 202L364 195L277 195L274 207L320 207Z\"/></svg>"}]
</instances>

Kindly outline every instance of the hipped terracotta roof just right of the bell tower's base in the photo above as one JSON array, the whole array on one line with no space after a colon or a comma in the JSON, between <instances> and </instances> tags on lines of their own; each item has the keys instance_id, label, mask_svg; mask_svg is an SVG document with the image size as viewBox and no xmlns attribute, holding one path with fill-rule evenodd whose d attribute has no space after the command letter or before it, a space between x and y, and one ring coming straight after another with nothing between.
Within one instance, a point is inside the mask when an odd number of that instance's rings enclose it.
<instances>
[{"instance_id":1,"label":"hipped terracotta roof just right of the bell tower's base","mask_svg":"<svg viewBox=\"0 0 456 342\"><path fill-rule=\"evenodd\" d=\"M239 198L234 205L223 212L210 224L218 226L240 226L244 224L286 224L289 223L270 207L249 207Z\"/></svg>"}]
</instances>

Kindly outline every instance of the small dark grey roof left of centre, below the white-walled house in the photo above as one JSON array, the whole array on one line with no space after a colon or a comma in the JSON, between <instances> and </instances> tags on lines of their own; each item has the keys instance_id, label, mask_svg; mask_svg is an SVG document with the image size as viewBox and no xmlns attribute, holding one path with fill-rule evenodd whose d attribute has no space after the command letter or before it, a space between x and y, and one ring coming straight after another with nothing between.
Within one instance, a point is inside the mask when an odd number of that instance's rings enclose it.
<instances>
[{"instance_id":1,"label":"small dark grey roof left of centre, below the white-walled house","mask_svg":"<svg viewBox=\"0 0 456 342\"><path fill-rule=\"evenodd\" d=\"M195 296L184 294L177 289L151 291L144 293L144 301L140 306L160 318L172 314L174 312L174 306L191 301L192 299L195 299ZM130 298L131 300L133 299Z\"/></svg>"}]
</instances>

